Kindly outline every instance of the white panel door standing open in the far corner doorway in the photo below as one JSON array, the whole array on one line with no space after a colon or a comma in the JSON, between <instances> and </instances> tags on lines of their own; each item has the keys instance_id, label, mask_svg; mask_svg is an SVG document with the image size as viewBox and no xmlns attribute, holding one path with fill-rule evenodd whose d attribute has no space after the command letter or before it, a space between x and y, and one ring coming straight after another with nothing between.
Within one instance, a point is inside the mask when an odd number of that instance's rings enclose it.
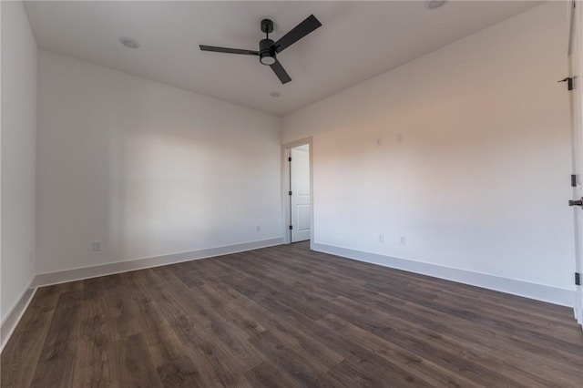
<instances>
[{"instance_id":1,"label":"white panel door standing open in the far corner doorway","mask_svg":"<svg viewBox=\"0 0 583 388\"><path fill-rule=\"evenodd\" d=\"M290 203L292 242L310 240L312 200L310 198L310 148L290 149Z\"/></svg>"}]
</instances>

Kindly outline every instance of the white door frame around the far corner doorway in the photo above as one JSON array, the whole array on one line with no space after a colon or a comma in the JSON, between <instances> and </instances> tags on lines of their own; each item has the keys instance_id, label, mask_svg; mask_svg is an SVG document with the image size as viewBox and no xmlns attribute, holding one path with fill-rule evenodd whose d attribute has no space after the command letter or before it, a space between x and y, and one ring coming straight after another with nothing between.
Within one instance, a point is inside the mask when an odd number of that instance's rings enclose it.
<instances>
[{"instance_id":1,"label":"white door frame around the far corner doorway","mask_svg":"<svg viewBox=\"0 0 583 388\"><path fill-rule=\"evenodd\" d=\"M281 146L281 219L283 220L283 224L281 225L281 230L283 234L283 243L284 244L291 244L292 243L292 236L290 233L290 225L292 222L292 211L290 208L290 168L288 165L288 156L290 155L290 149L300 147L300 146L309 146L309 158L310 158L310 249L312 249L313 244L313 208L314 208L314 200L313 200L313 147L312 147L312 137L310 138L301 138L299 140L292 141L290 143L286 143Z\"/></svg>"}]
</instances>

